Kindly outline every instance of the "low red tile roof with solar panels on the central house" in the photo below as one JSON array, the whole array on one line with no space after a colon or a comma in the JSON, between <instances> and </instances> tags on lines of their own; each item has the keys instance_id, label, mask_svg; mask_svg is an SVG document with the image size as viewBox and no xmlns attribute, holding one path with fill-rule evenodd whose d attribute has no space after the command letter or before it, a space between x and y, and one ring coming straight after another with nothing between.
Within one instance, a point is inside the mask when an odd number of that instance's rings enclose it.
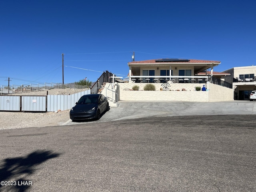
<instances>
[{"instance_id":1,"label":"low red tile roof with solar panels on the central house","mask_svg":"<svg viewBox=\"0 0 256 192\"><path fill-rule=\"evenodd\" d=\"M220 61L212 61L212 60L196 60L196 59L153 59L153 60L144 60L144 61L133 61L128 62L128 64L184 64L184 63L214 63L220 64Z\"/></svg>"}]
</instances>

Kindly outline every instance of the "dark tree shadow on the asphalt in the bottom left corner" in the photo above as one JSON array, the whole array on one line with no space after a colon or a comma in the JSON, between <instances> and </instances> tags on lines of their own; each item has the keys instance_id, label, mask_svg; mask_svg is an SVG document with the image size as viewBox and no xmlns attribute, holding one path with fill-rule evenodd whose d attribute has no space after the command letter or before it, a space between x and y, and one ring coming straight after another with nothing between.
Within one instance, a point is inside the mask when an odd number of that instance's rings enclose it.
<instances>
[{"instance_id":1,"label":"dark tree shadow on the asphalt in the bottom left corner","mask_svg":"<svg viewBox=\"0 0 256 192\"><path fill-rule=\"evenodd\" d=\"M31 186L29 185L31 181L26 180L26 176L33 174L37 165L58 156L60 156L59 153L51 150L36 150L24 157L2 160L0 162L0 191L26 191ZM10 182L4 184L3 181Z\"/></svg>"}]
</instances>

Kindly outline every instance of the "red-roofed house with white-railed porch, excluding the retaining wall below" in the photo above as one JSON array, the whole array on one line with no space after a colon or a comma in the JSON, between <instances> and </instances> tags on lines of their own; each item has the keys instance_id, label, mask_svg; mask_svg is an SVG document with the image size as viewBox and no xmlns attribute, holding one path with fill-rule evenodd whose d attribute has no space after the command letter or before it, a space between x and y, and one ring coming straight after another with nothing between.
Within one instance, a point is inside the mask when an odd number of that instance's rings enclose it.
<instances>
[{"instance_id":1,"label":"red-roofed house with white-railed porch, excluding the retaining wall below","mask_svg":"<svg viewBox=\"0 0 256 192\"><path fill-rule=\"evenodd\" d=\"M220 61L165 58L128 62L129 82L206 82ZM197 75L210 69L208 76Z\"/></svg>"}]
</instances>

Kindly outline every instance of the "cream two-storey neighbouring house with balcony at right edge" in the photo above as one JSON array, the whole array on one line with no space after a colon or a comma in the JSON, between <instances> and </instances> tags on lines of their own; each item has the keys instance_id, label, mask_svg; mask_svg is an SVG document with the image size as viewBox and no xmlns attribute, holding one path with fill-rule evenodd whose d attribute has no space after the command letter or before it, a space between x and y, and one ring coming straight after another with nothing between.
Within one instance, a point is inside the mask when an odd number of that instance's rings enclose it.
<instances>
[{"instance_id":1,"label":"cream two-storey neighbouring house with balcony at right edge","mask_svg":"<svg viewBox=\"0 0 256 192\"><path fill-rule=\"evenodd\" d=\"M226 82L233 84L234 100L249 100L250 93L256 90L256 66L234 67L223 71Z\"/></svg>"}]
</instances>

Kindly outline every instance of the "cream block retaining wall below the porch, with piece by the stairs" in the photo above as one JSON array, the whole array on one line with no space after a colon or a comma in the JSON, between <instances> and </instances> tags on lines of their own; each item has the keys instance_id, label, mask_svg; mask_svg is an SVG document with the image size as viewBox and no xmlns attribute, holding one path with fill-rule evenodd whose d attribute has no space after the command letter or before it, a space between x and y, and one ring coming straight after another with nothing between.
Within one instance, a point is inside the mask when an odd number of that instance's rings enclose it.
<instances>
[{"instance_id":1,"label":"cream block retaining wall below the porch, with piece by the stairs","mask_svg":"<svg viewBox=\"0 0 256 192\"><path fill-rule=\"evenodd\" d=\"M195 91L195 86L203 86L198 83L173 83L170 84L172 91L160 91L161 83L155 83L156 91L144 91L147 83L119 83L120 100L125 101L190 101L190 102L214 102L233 100L232 89L215 84L204 84L208 91ZM111 88L111 86L106 87ZM139 85L140 91L131 91L132 86ZM181 91L185 88L187 91ZM176 91L180 90L180 91ZM103 89L102 94L111 98L115 97L112 91Z\"/></svg>"}]
</instances>

